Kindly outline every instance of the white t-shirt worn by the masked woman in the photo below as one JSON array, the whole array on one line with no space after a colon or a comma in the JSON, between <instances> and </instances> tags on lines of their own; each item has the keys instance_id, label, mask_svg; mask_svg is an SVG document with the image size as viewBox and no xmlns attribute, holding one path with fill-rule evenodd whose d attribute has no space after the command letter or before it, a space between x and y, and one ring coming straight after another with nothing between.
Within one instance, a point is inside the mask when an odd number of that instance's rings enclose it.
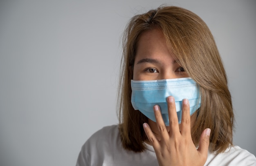
<instances>
[{"instance_id":1,"label":"white t-shirt worn by the masked woman","mask_svg":"<svg viewBox=\"0 0 256 166\"><path fill-rule=\"evenodd\" d=\"M94 133L82 146L76 166L158 166L153 146L142 153L125 150L117 125ZM205 166L256 166L256 158L239 146L216 155L209 151Z\"/></svg>"}]
</instances>

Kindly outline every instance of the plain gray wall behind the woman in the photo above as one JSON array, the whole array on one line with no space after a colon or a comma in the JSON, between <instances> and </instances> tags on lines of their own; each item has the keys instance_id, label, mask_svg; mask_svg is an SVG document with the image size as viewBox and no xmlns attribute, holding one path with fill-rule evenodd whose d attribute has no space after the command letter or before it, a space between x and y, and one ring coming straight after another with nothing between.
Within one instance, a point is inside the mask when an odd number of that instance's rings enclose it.
<instances>
[{"instance_id":1,"label":"plain gray wall behind the woman","mask_svg":"<svg viewBox=\"0 0 256 166\"><path fill-rule=\"evenodd\" d=\"M75 165L92 133L117 124L121 34L161 4L208 24L229 79L234 143L256 155L254 0L1 0L1 166Z\"/></svg>"}]
</instances>

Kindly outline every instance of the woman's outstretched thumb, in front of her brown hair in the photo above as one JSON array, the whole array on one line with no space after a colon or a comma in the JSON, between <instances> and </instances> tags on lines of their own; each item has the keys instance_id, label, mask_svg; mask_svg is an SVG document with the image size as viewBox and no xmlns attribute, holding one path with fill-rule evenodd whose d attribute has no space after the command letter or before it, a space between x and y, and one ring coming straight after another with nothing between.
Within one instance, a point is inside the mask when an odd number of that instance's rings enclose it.
<instances>
[{"instance_id":1,"label":"woman's outstretched thumb, in front of her brown hair","mask_svg":"<svg viewBox=\"0 0 256 166\"><path fill-rule=\"evenodd\" d=\"M198 152L201 154L208 154L208 148L210 144L210 133L211 129L206 128L204 129L200 136Z\"/></svg>"}]
</instances>

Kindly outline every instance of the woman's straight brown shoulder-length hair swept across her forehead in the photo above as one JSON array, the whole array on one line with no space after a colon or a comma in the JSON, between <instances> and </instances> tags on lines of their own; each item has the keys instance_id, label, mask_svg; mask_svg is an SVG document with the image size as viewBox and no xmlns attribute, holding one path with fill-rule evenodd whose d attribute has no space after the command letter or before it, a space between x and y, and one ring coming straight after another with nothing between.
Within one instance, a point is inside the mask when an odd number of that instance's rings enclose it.
<instances>
[{"instance_id":1,"label":"woman's straight brown shoulder-length hair swept across her forehead","mask_svg":"<svg viewBox=\"0 0 256 166\"><path fill-rule=\"evenodd\" d=\"M194 144L205 128L211 128L211 150L217 153L232 145L234 114L227 77L215 40L206 23L195 13L180 7L159 7L135 15L124 31L119 82L119 130L126 150L142 152L147 140L143 123L148 121L130 102L133 66L139 35L160 29L174 58L200 86L201 107L191 128Z\"/></svg>"}]
</instances>

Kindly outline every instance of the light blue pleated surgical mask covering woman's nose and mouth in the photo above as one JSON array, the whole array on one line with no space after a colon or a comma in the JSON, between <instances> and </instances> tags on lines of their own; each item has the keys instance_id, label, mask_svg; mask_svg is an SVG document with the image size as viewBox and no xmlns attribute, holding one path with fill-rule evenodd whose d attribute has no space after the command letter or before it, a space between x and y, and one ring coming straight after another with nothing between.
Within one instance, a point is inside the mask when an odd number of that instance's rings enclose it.
<instances>
[{"instance_id":1,"label":"light blue pleated surgical mask covering woman's nose and mouth","mask_svg":"<svg viewBox=\"0 0 256 166\"><path fill-rule=\"evenodd\" d=\"M133 108L156 122L153 106L159 105L166 126L169 126L166 102L168 96L173 96L175 99L179 123L181 123L183 99L189 100L190 115L201 105L199 85L190 77L150 81L131 80L131 86Z\"/></svg>"}]
</instances>

